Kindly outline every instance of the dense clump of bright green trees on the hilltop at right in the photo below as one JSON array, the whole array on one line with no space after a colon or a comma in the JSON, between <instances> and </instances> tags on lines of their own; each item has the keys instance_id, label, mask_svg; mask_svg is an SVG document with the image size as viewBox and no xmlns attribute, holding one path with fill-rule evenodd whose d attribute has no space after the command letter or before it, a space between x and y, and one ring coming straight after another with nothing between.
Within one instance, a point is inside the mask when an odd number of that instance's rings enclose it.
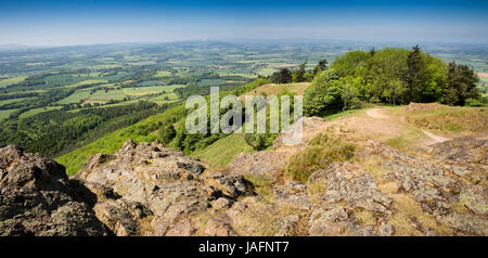
<instances>
[{"instance_id":1,"label":"dense clump of bright green trees on the hilltop at right","mask_svg":"<svg viewBox=\"0 0 488 258\"><path fill-rule=\"evenodd\" d=\"M319 73L305 92L305 113L318 115L358 107L359 100L407 104L439 102L484 105L473 69L412 50L350 51Z\"/></svg>"}]
</instances>

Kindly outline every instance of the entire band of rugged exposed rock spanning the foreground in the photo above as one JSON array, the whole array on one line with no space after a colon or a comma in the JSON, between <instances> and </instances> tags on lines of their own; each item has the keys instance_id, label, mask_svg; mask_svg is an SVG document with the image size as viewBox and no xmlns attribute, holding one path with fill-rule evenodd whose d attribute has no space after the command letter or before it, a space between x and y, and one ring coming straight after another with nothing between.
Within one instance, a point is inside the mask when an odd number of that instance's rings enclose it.
<instances>
[{"instance_id":1,"label":"entire band of rugged exposed rock spanning the foreground","mask_svg":"<svg viewBox=\"0 0 488 258\"><path fill-rule=\"evenodd\" d=\"M360 162L326 164L297 182L280 178L291 154L277 151L241 154L216 171L128 140L68 179L54 160L8 146L0 234L488 235L487 150L457 139L407 154L369 141Z\"/></svg>"}]
</instances>

